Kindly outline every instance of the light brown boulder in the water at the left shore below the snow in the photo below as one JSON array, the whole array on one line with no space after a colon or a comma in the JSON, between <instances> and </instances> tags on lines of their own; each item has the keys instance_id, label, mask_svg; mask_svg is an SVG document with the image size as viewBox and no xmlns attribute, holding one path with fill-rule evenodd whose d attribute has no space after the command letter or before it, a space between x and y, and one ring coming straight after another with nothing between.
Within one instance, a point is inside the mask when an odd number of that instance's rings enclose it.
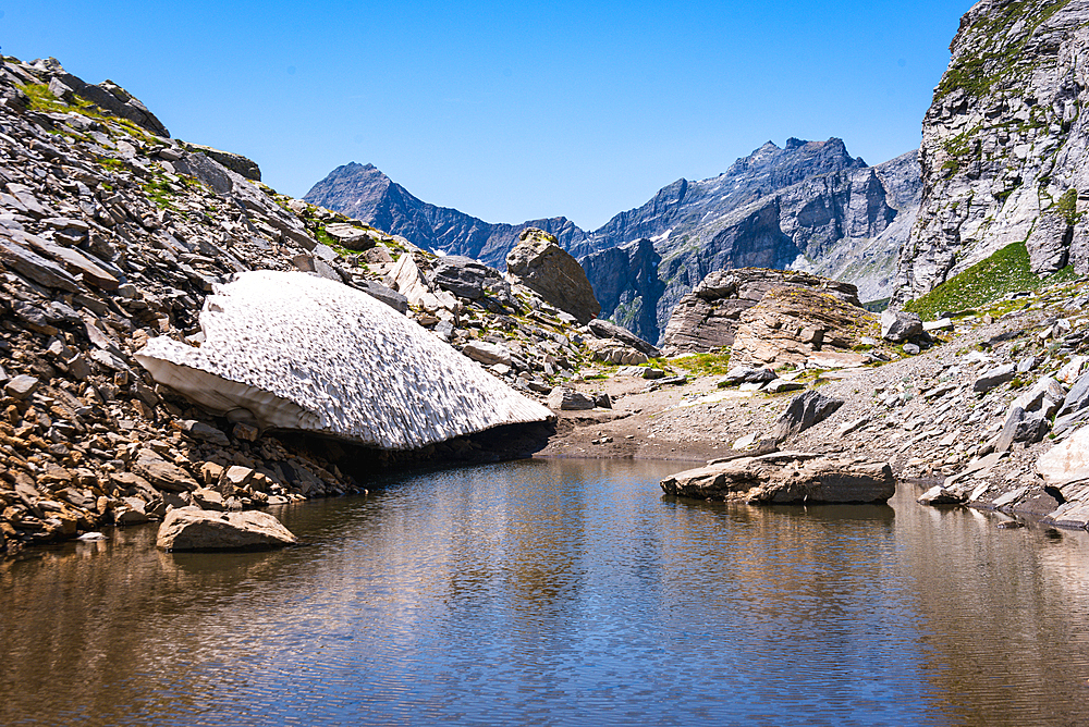
<instances>
[{"instance_id":1,"label":"light brown boulder in the water at the left shore below the snow","mask_svg":"<svg viewBox=\"0 0 1089 727\"><path fill-rule=\"evenodd\" d=\"M268 513L216 513L182 507L167 514L155 544L163 551L261 551L297 542Z\"/></svg>"}]
</instances>

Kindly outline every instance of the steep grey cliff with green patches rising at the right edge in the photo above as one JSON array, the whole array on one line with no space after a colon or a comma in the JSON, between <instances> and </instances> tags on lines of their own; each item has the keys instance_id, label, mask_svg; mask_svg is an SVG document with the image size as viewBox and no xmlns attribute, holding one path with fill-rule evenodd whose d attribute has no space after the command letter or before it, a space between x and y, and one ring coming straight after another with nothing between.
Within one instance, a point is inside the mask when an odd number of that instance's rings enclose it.
<instances>
[{"instance_id":1,"label":"steep grey cliff with green patches rising at the right edge","mask_svg":"<svg viewBox=\"0 0 1089 727\"><path fill-rule=\"evenodd\" d=\"M983 0L923 121L923 193L896 300L1024 242L1033 272L1089 269L1089 1Z\"/></svg>"}]
</instances>

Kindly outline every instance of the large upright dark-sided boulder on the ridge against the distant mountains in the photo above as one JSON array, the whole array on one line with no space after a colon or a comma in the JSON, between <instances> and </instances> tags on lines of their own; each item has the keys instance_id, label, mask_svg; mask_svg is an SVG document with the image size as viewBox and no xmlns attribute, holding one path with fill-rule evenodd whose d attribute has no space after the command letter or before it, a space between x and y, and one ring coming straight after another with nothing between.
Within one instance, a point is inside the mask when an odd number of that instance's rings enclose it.
<instances>
[{"instance_id":1,"label":"large upright dark-sided boulder on the ridge against the distant mountains","mask_svg":"<svg viewBox=\"0 0 1089 727\"><path fill-rule=\"evenodd\" d=\"M506 254L506 271L579 323L589 323L601 312L601 304L578 260L543 230L528 227L522 232L518 244Z\"/></svg>"}]
</instances>

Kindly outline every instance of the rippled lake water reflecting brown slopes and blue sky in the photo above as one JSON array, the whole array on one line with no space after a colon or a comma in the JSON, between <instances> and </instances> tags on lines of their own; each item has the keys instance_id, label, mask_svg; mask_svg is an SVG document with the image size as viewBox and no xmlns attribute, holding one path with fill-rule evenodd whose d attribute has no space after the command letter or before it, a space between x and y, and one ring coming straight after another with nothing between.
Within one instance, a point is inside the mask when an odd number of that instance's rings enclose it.
<instances>
[{"instance_id":1,"label":"rippled lake water reflecting brown slopes and blue sky","mask_svg":"<svg viewBox=\"0 0 1089 727\"><path fill-rule=\"evenodd\" d=\"M1089 724L1089 538L663 498L523 461L278 514L310 547L0 563L2 725Z\"/></svg>"}]
</instances>

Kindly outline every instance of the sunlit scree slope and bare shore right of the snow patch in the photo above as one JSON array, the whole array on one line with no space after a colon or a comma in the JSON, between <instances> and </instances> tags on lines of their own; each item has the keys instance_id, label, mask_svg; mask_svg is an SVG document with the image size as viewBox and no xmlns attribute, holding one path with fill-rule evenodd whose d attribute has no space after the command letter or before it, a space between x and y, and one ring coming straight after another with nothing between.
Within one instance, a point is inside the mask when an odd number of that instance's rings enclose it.
<instances>
[{"instance_id":1,"label":"sunlit scree slope and bare shore right of the snow patch","mask_svg":"<svg viewBox=\"0 0 1089 727\"><path fill-rule=\"evenodd\" d=\"M866 360L813 352L773 371L738 366L746 352L735 345L731 354L584 372L574 385L609 395L613 408L562 414L561 435L544 454L725 461L782 448L865 457L890 463L900 486L925 505L996 510L1005 514L1000 523L1013 516L1015 525L1085 528L1087 283L1008 294L919 322L908 337L870 319L853 346ZM810 321L799 315L796 322Z\"/></svg>"}]
</instances>

